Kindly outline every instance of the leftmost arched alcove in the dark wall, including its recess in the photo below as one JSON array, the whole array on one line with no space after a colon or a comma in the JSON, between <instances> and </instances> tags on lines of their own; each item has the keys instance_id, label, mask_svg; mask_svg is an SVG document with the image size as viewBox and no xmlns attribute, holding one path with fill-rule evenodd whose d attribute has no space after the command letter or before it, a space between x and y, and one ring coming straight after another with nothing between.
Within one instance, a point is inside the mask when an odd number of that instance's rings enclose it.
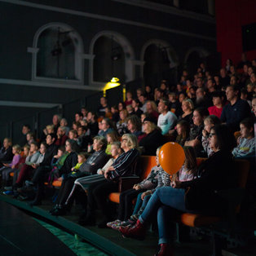
<instances>
[{"instance_id":1,"label":"leftmost arched alcove in the dark wall, including its recess","mask_svg":"<svg viewBox=\"0 0 256 256\"><path fill-rule=\"evenodd\" d=\"M33 79L83 82L83 44L67 24L42 26L33 39Z\"/></svg>"}]
</instances>

